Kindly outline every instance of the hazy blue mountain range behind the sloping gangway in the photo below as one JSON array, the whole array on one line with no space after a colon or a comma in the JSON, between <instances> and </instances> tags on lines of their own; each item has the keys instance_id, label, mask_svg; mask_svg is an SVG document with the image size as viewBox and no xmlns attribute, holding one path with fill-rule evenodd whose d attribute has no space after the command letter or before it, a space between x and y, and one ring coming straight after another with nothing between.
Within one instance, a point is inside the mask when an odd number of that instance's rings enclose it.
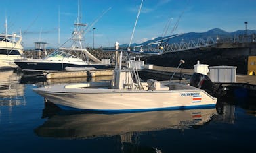
<instances>
[{"instance_id":1,"label":"hazy blue mountain range behind the sloping gangway","mask_svg":"<svg viewBox=\"0 0 256 153\"><path fill-rule=\"evenodd\" d=\"M251 35L251 34L255 34L256 35L256 30L247 30L247 35ZM184 40L184 42L188 42L189 40L198 40L198 38L207 38L207 37L211 37L211 38L217 38L219 37L221 38L233 38L234 36L239 36L239 35L244 35L245 34L245 30L237 30L235 32L226 32L224 30L221 30L220 28L213 28L207 32L189 32L189 33L185 33L185 34L181 34L179 36L175 36L174 38L170 38L168 40L169 43L177 43L177 42L181 42L182 40ZM174 35L171 35L174 36ZM155 38L154 40L148 40L146 42L143 42L141 44L131 44L131 46L137 46L137 45L146 45L149 44L151 42L156 42L158 40L164 39L164 38L168 38L171 36L165 36L165 37L158 37ZM122 44L120 45L120 47L128 47L129 44Z\"/></svg>"}]
</instances>

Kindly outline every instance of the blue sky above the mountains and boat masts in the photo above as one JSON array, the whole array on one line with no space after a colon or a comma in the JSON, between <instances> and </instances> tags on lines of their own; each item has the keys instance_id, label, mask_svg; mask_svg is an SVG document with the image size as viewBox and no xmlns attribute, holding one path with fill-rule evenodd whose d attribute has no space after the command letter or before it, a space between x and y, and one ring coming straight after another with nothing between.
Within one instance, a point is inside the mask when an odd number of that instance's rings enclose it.
<instances>
[{"instance_id":1,"label":"blue sky above the mountains and boat masts","mask_svg":"<svg viewBox=\"0 0 256 153\"><path fill-rule=\"evenodd\" d=\"M5 0L1 3L0 32L22 31L24 47L34 47L39 40L58 47L58 9L60 8L60 44L70 38L77 18L77 0ZM140 0L82 0L82 22L92 24L95 47L129 44ZM227 32L256 27L255 0L144 0L132 43L141 43L163 34L171 20L167 35L184 32L206 32L221 28ZM183 12L183 13L182 13ZM177 20L177 28L173 28ZM93 32L85 34L85 45L93 46Z\"/></svg>"}]
</instances>

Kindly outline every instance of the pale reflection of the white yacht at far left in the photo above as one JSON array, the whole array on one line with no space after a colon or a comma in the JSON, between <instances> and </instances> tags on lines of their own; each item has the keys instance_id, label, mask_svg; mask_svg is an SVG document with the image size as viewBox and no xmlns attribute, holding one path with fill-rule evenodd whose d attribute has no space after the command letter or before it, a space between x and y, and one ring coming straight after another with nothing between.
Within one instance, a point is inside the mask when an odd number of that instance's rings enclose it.
<instances>
[{"instance_id":1,"label":"pale reflection of the white yacht at far left","mask_svg":"<svg viewBox=\"0 0 256 153\"><path fill-rule=\"evenodd\" d=\"M0 105L25 104L24 85L19 83L20 76L14 71L0 71Z\"/></svg>"}]
</instances>

